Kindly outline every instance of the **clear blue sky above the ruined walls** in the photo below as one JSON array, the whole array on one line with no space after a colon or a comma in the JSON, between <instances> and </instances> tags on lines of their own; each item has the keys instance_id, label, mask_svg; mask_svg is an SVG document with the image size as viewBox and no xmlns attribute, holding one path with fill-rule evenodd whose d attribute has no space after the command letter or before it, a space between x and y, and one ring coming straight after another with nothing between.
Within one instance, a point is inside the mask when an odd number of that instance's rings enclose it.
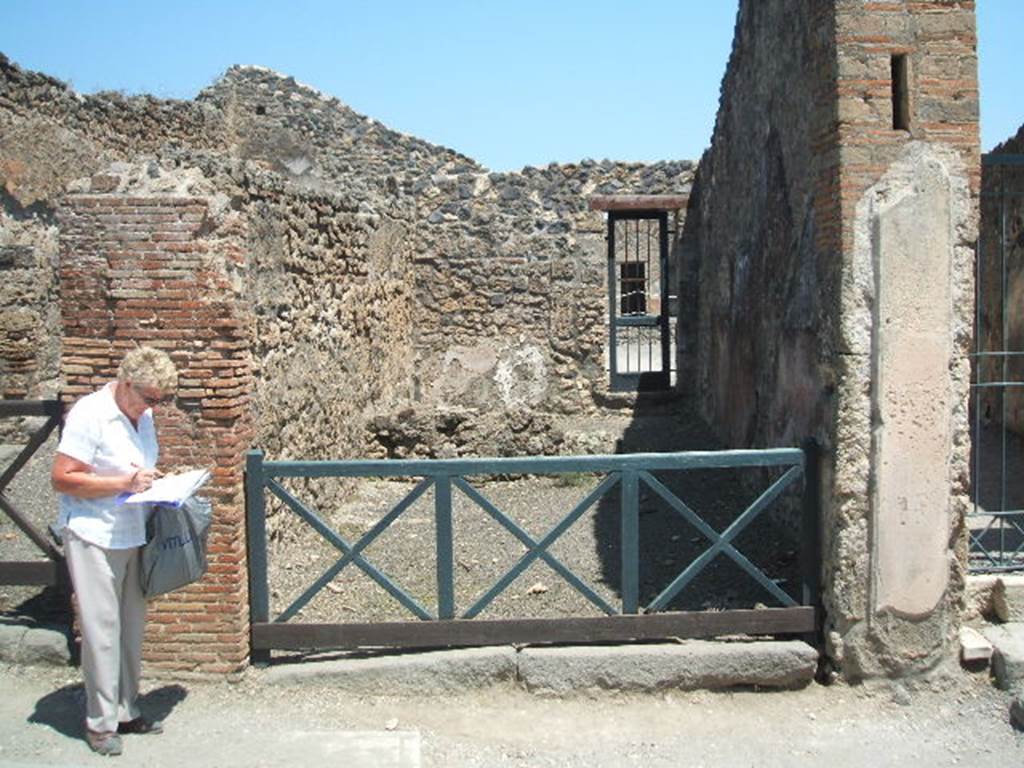
<instances>
[{"instance_id":1,"label":"clear blue sky above the ruined walls","mask_svg":"<svg viewBox=\"0 0 1024 768\"><path fill-rule=\"evenodd\" d=\"M771 1L771 0L763 0ZM495 170L699 158L736 0L0 0L0 51L82 93L292 75ZM979 0L982 146L1024 123L1024 0Z\"/></svg>"}]
</instances>

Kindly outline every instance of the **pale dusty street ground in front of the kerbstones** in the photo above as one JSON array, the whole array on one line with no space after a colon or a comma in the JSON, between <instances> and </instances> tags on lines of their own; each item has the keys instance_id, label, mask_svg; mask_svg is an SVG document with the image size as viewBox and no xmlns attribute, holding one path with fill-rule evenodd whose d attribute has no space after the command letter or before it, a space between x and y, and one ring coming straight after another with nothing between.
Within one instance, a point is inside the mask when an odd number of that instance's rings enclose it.
<instances>
[{"instance_id":1,"label":"pale dusty street ground in front of the kerbstones","mask_svg":"<svg viewBox=\"0 0 1024 768\"><path fill-rule=\"evenodd\" d=\"M74 669L0 668L0 767L109 764L80 735ZM928 683L796 691L542 698L509 688L460 696L355 697L318 684L148 680L161 736L129 736L121 765L972 766L1024 764L1010 695L983 673ZM401 744L399 748L398 745ZM105 761L105 762L104 762Z\"/></svg>"}]
</instances>

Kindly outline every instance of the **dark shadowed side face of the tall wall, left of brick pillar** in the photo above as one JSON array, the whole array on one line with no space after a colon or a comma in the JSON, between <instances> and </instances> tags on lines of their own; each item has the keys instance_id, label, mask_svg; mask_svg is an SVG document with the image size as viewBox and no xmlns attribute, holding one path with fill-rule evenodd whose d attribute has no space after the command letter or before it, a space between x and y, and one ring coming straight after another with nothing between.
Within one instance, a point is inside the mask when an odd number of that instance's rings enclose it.
<instances>
[{"instance_id":1,"label":"dark shadowed side face of the tall wall, left of brick pillar","mask_svg":"<svg viewBox=\"0 0 1024 768\"><path fill-rule=\"evenodd\" d=\"M838 251L828 5L740 3L691 200L696 390L731 445L827 439Z\"/></svg>"}]
</instances>

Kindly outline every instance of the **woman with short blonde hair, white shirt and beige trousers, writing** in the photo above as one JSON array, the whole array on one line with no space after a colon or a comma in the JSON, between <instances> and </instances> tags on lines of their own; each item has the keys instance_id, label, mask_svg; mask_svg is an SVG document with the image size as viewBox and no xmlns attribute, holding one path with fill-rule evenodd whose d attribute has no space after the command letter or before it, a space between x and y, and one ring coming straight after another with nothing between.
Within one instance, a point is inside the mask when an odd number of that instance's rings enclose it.
<instances>
[{"instance_id":1,"label":"woman with short blonde hair, white shirt and beige trousers, writing","mask_svg":"<svg viewBox=\"0 0 1024 768\"><path fill-rule=\"evenodd\" d=\"M82 633L86 740L120 755L123 733L160 733L138 710L145 628L139 547L144 504L122 494L147 489L159 476L153 408L173 396L177 371L152 347L125 355L117 381L86 395L65 423L51 480L58 492L65 556Z\"/></svg>"}]
</instances>

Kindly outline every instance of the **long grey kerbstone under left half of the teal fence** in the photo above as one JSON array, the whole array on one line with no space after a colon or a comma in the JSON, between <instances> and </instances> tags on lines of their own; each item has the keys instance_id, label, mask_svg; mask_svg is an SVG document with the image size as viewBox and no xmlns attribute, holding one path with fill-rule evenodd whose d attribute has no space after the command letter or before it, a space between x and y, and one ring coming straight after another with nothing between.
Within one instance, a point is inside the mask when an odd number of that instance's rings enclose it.
<instances>
[{"instance_id":1,"label":"long grey kerbstone under left half of the teal fence","mask_svg":"<svg viewBox=\"0 0 1024 768\"><path fill-rule=\"evenodd\" d=\"M306 662L271 667L265 675L269 683L333 683L371 695L458 693L513 683L516 652L502 646Z\"/></svg>"}]
</instances>

